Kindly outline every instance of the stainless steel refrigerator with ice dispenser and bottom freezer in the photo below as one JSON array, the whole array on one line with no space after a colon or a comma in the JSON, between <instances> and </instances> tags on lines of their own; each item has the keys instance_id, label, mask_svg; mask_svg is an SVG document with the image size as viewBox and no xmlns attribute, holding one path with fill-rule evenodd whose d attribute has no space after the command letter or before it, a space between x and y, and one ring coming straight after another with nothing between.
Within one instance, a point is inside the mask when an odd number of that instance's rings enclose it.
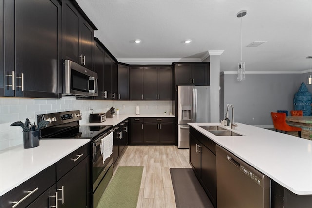
<instances>
[{"instance_id":1,"label":"stainless steel refrigerator with ice dispenser and bottom freezer","mask_svg":"<svg viewBox=\"0 0 312 208\"><path fill-rule=\"evenodd\" d=\"M210 122L210 86L178 86L178 148L189 148L189 122Z\"/></svg>"}]
</instances>

